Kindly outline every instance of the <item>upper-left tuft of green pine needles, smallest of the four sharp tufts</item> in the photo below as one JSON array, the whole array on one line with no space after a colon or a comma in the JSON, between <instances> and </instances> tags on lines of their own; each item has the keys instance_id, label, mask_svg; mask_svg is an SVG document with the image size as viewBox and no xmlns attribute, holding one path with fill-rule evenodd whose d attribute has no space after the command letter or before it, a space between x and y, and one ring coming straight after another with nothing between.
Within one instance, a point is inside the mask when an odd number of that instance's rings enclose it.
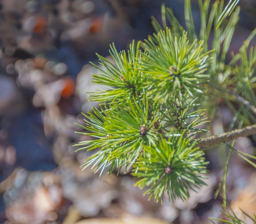
<instances>
[{"instance_id":1,"label":"upper-left tuft of green pine needles, smallest of the four sharp tufts","mask_svg":"<svg viewBox=\"0 0 256 224\"><path fill-rule=\"evenodd\" d=\"M130 44L130 49L117 52L115 45L110 45L110 55L115 64L110 60L97 54L100 64L104 69L94 65L99 69L99 74L92 75L92 83L106 85L109 90L99 90L94 92L90 97L90 101L112 102L124 99L124 96L139 94L142 92L143 76L139 70L141 65L140 42Z\"/></svg>"}]
</instances>

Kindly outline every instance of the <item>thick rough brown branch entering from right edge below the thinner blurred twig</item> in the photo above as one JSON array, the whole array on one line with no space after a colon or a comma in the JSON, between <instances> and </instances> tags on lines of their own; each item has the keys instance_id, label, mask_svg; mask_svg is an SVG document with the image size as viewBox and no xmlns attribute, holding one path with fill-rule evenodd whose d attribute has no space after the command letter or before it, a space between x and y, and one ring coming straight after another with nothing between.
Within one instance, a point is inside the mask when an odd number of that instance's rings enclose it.
<instances>
[{"instance_id":1,"label":"thick rough brown branch entering from right edge below the thinner blurred twig","mask_svg":"<svg viewBox=\"0 0 256 224\"><path fill-rule=\"evenodd\" d=\"M252 134L256 134L256 124L247 126L245 128L236 129L231 132L225 132L220 135L214 135L209 138L200 139L196 146L200 148L218 146L221 143L229 142L239 137L246 137Z\"/></svg>"}]
</instances>

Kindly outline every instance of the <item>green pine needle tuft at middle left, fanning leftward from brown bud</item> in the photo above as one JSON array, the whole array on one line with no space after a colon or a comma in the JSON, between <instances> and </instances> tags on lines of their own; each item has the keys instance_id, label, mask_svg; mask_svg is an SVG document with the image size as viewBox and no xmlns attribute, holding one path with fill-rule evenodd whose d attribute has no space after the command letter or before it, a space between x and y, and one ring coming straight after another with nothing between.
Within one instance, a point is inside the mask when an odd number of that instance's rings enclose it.
<instances>
[{"instance_id":1,"label":"green pine needle tuft at middle left, fanning leftward from brown bud","mask_svg":"<svg viewBox=\"0 0 256 224\"><path fill-rule=\"evenodd\" d=\"M118 168L125 165L128 170L143 147L150 146L158 138L158 130L155 129L159 119L157 105L151 105L153 110L149 110L149 104L150 99L144 94L141 98L137 96L137 99L133 97L125 103L110 105L108 109L105 105L101 106L101 111L93 108L94 113L88 112L85 115L87 125L80 126L90 131L83 134L97 139L82 141L76 146L85 146L79 150L101 149L89 157L84 166L97 163L95 169L98 170L106 162L114 163Z\"/></svg>"}]
</instances>

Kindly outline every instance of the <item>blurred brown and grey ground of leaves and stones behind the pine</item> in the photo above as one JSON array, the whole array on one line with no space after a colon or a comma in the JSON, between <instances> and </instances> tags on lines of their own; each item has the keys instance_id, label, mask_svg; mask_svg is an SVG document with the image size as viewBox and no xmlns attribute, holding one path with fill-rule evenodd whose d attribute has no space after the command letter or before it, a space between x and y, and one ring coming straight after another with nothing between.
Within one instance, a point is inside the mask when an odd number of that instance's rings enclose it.
<instances>
[{"instance_id":1,"label":"blurred brown and grey ground of leaves and stones behind the pine","mask_svg":"<svg viewBox=\"0 0 256 224\"><path fill-rule=\"evenodd\" d=\"M75 123L84 124L81 112L97 106L85 92L104 88L90 84L97 69L89 61L98 63L95 53L109 57L112 42L118 50L127 49L132 40L153 34L150 16L160 21L162 3L184 24L183 0L0 1L0 223L71 224L97 218L108 223L117 218L117 223L189 224L220 217L222 202L213 194L223 173L221 148L207 155L207 187L192 192L186 204L166 198L161 205L148 202L129 174L99 179L90 169L82 171L92 152L72 147L90 139L74 133L81 131ZM256 27L255 1L240 4L234 52ZM196 4L193 8L199 25ZM225 130L231 119L227 107L219 105L215 130ZM238 139L236 146L254 154L249 138ZM228 199L238 213L243 205L251 214L256 211L254 169L238 158L230 166Z\"/></svg>"}]
</instances>

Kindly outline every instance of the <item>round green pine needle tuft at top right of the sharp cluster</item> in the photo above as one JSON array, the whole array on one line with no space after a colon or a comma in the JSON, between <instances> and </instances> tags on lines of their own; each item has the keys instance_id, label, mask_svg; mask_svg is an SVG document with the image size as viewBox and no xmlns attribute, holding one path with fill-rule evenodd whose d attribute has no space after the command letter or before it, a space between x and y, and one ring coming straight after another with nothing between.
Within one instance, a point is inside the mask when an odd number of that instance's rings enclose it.
<instances>
[{"instance_id":1,"label":"round green pine needle tuft at top right of the sharp cluster","mask_svg":"<svg viewBox=\"0 0 256 224\"><path fill-rule=\"evenodd\" d=\"M176 95L194 97L202 93L200 83L209 77L206 71L210 53L204 53L202 41L189 43L185 31L177 38L166 28L145 40L144 48L142 65L155 101L164 103Z\"/></svg>"}]
</instances>

